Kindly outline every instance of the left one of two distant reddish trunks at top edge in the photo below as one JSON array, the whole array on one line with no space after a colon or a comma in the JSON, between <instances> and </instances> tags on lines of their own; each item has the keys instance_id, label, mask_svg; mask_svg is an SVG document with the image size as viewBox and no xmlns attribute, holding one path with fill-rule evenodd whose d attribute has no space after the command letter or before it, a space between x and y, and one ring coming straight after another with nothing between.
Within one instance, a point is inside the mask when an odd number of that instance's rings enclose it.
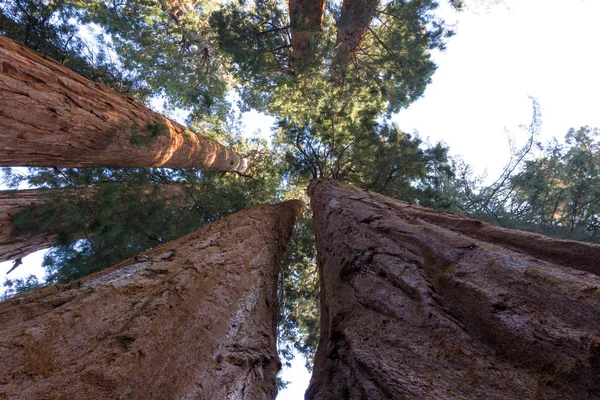
<instances>
[{"instance_id":1,"label":"left one of two distant reddish trunks at top edge","mask_svg":"<svg viewBox=\"0 0 600 400\"><path fill-rule=\"evenodd\" d=\"M296 72L302 72L314 60L325 0L289 0L292 60Z\"/></svg>"}]
</instances>

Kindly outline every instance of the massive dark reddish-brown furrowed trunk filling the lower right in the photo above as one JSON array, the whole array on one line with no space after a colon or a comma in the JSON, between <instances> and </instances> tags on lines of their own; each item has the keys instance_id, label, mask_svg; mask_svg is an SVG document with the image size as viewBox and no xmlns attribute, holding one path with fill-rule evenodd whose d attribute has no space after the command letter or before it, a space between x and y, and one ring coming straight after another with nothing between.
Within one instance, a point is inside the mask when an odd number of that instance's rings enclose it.
<instances>
[{"instance_id":1,"label":"massive dark reddish-brown furrowed trunk filling the lower right","mask_svg":"<svg viewBox=\"0 0 600 400\"><path fill-rule=\"evenodd\" d=\"M321 337L307 399L600 398L600 246L332 181L309 195Z\"/></svg>"}]
</instances>

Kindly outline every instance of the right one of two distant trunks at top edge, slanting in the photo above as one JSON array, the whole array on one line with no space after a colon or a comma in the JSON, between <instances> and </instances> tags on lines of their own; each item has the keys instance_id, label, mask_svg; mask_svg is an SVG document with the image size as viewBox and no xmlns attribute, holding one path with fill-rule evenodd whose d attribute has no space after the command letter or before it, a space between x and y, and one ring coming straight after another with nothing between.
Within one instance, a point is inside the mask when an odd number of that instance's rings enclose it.
<instances>
[{"instance_id":1,"label":"right one of two distant trunks at top edge, slanting","mask_svg":"<svg viewBox=\"0 0 600 400\"><path fill-rule=\"evenodd\" d=\"M379 0L344 0L337 22L337 38L333 58L333 72L339 75L346 69L352 53L362 43L367 28L375 15Z\"/></svg>"}]
</instances>

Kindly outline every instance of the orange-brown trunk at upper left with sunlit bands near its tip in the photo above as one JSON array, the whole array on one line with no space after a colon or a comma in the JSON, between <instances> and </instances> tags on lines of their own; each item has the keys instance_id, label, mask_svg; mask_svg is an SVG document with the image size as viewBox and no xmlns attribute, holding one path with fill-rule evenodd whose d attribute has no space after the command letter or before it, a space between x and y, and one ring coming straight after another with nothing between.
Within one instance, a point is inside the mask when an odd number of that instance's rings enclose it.
<instances>
[{"instance_id":1,"label":"orange-brown trunk at upper left with sunlit bands near its tip","mask_svg":"<svg viewBox=\"0 0 600 400\"><path fill-rule=\"evenodd\" d=\"M214 168L217 142L0 36L0 166Z\"/></svg>"}]
</instances>

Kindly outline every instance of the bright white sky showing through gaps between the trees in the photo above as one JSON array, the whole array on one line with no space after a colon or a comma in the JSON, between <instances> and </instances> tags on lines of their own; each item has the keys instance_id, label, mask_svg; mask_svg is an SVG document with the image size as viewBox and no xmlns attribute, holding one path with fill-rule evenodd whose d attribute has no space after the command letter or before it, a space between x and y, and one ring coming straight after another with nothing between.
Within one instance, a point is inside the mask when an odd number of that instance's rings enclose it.
<instances>
[{"instance_id":1,"label":"bright white sky showing through gaps between the trees","mask_svg":"<svg viewBox=\"0 0 600 400\"><path fill-rule=\"evenodd\" d=\"M436 55L439 68L423 98L394 118L405 131L417 130L432 143L445 141L453 154L463 155L478 173L487 169L490 177L509 158L504 128L521 142L526 138L517 127L531 121L528 95L542 107L543 142L552 136L562 139L571 127L600 127L600 1L505 4L489 12L447 11L457 21L457 34ZM245 122L248 132L270 131L256 114ZM26 267L11 278L31 273ZM10 263L0 264L0 280L9 268ZM304 398L308 374L302 360L294 365L283 376L294 383L279 400Z\"/></svg>"}]
</instances>

